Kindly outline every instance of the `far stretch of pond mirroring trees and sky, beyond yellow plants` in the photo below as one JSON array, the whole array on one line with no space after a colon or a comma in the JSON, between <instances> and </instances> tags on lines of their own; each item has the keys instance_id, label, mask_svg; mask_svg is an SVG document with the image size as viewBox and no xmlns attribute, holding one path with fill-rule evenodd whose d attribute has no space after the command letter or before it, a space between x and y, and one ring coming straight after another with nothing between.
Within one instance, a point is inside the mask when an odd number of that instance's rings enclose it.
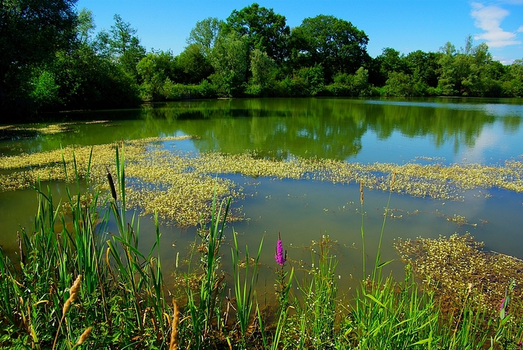
<instances>
[{"instance_id":1,"label":"far stretch of pond mirroring trees and sky, beyond yellow plants","mask_svg":"<svg viewBox=\"0 0 523 350\"><path fill-rule=\"evenodd\" d=\"M465 101L465 102L463 102ZM516 102L519 102L517 104ZM494 158L523 153L522 101L492 99L365 100L273 98L198 100L148 104L140 109L60 114L73 121L69 132L1 141L4 155L45 151L68 144L105 144L119 139L197 135L194 151L240 153L257 150L286 158L332 158L401 162L399 145L416 156L447 158L473 152L485 130L496 130L503 145ZM107 120L107 123L75 121ZM494 125L502 128L493 128ZM362 152L367 149L365 156ZM373 151L375 158L368 155ZM405 157L405 155L403 155ZM491 155L492 156L492 155ZM459 160L458 160L459 161Z\"/></svg>"}]
</instances>

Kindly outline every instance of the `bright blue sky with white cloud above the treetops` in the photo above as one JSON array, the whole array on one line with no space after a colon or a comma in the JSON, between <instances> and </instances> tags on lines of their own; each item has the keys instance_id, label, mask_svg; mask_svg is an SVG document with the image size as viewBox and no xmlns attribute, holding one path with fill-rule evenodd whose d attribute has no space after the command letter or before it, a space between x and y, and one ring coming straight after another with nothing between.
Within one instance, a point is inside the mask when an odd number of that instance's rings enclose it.
<instances>
[{"instance_id":1,"label":"bright blue sky with white cloud above the treetops","mask_svg":"<svg viewBox=\"0 0 523 350\"><path fill-rule=\"evenodd\" d=\"M372 57L384 47L437 52L450 41L460 48L471 35L474 45L487 43L502 63L523 59L523 0L78 0L77 8L93 12L97 32L109 29L117 13L137 29L147 50L179 54L197 21L225 20L253 2L284 15L290 27L316 15L347 20L365 31Z\"/></svg>"}]
</instances>

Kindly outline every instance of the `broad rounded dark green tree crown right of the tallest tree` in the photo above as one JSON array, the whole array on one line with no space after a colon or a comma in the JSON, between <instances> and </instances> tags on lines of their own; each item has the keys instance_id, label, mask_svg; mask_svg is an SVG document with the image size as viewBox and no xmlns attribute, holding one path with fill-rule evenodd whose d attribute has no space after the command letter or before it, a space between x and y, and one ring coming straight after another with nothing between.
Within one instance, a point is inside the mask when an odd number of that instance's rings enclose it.
<instances>
[{"instance_id":1,"label":"broad rounded dark green tree crown right of the tallest tree","mask_svg":"<svg viewBox=\"0 0 523 350\"><path fill-rule=\"evenodd\" d=\"M336 73L354 74L370 61L365 32L331 15L305 18L291 36L294 59L301 66L323 66L328 82Z\"/></svg>"}]
</instances>

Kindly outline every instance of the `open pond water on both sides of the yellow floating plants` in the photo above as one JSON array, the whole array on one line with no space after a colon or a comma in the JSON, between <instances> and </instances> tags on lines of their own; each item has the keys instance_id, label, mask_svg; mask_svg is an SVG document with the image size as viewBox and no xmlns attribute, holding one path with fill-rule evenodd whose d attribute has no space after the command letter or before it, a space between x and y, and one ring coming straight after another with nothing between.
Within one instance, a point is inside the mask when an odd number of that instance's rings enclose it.
<instances>
[{"instance_id":1,"label":"open pond water on both sides of the yellow floating plants","mask_svg":"<svg viewBox=\"0 0 523 350\"><path fill-rule=\"evenodd\" d=\"M49 123L22 125L33 131L10 131L12 138L0 141L2 157L73 144L89 146L122 139L191 135L194 138L165 142L164 146L190 156L251 151L266 159L328 159L361 165L379 162L503 167L507 160L523 161L520 99L192 100L129 110L64 112L51 117L56 120L52 125L58 127L49 128ZM8 173L2 170L0 175ZM521 181L523 174L515 177L514 181ZM244 196L233 202L243 220L229 224L240 234L238 243L254 252L264 236L261 261L268 268L261 273L260 281L265 282L260 284L265 284L266 289L271 290L274 281L270 274L275 268L278 232L294 266L301 266L301 260L310 261L310 252L305 248L328 235L338 242L340 287L351 285L343 282L349 281L351 275L361 278L359 181L237 173L220 174L220 178L229 178L243 190ZM65 196L65 185L53 183L52 187L57 197ZM365 249L367 261L373 263L389 192L365 187L364 197ZM476 186L462 190L453 199L393 192L384 228L383 260L397 258L395 238L437 238L467 232L485 242L485 250L523 258L522 192ZM0 245L4 250L15 250L16 231L19 225L31 227L35 210L33 190L1 190ZM149 247L154 241L150 215L142 219L141 231L142 245ZM195 241L195 227L162 225L160 231L163 266L175 269L176 256L186 256L186 248ZM230 230L226 237L230 240ZM227 254L230 249L227 246L223 251ZM392 266L395 273L402 273L401 264ZM230 257L223 259L223 268L230 271Z\"/></svg>"}]
</instances>

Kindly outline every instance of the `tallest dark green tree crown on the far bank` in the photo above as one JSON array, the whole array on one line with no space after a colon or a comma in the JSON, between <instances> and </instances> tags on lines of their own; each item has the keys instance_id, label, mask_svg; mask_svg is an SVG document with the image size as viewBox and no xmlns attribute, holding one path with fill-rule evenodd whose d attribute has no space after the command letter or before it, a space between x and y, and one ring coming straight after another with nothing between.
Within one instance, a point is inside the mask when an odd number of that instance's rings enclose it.
<instances>
[{"instance_id":1,"label":"tallest dark green tree crown on the far bank","mask_svg":"<svg viewBox=\"0 0 523 350\"><path fill-rule=\"evenodd\" d=\"M287 37L290 34L285 16L274 13L272 8L257 3L232 11L224 25L226 33L236 31L247 36L250 51L258 49L278 63L288 56Z\"/></svg>"}]
</instances>

